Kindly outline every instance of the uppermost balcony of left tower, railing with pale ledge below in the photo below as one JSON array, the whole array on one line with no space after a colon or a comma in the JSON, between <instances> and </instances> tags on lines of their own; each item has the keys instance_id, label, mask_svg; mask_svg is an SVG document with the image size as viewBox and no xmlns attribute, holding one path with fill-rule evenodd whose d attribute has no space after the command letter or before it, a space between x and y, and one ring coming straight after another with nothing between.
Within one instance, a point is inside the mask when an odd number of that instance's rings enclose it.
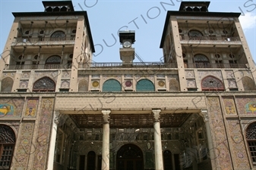
<instances>
[{"instance_id":1,"label":"uppermost balcony of left tower, railing with pale ledge below","mask_svg":"<svg viewBox=\"0 0 256 170\"><path fill-rule=\"evenodd\" d=\"M66 36L60 38L51 38L51 37L23 37L16 38L11 45L69 45L74 44L74 36Z\"/></svg>"}]
</instances>

